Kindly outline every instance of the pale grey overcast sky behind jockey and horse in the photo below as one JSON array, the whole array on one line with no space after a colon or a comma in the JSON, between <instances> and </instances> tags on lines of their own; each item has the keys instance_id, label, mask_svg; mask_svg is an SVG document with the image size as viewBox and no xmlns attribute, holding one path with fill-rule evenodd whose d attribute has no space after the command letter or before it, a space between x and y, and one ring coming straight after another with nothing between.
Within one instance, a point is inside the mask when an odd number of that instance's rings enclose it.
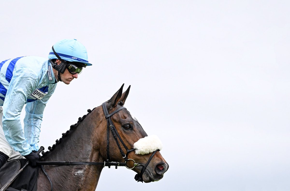
<instances>
[{"instance_id":1,"label":"pale grey overcast sky behind jockey and horse","mask_svg":"<svg viewBox=\"0 0 290 191\"><path fill-rule=\"evenodd\" d=\"M289 1L1 1L0 60L80 41L93 66L59 83L46 150L125 83L125 107L169 163L140 183L104 168L97 190L290 190ZM75 104L71 104L76 100ZM24 115L23 115L24 117Z\"/></svg>"}]
</instances>

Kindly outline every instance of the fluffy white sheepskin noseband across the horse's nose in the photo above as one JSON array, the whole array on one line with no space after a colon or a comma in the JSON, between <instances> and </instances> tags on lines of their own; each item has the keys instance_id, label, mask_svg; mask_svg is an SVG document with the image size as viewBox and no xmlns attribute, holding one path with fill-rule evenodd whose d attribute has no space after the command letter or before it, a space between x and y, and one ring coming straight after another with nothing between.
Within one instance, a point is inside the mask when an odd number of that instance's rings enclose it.
<instances>
[{"instance_id":1,"label":"fluffy white sheepskin noseband across the horse's nose","mask_svg":"<svg viewBox=\"0 0 290 191\"><path fill-rule=\"evenodd\" d=\"M150 135L139 139L134 143L134 149L136 154L148 154L154 152L155 150L162 149L162 143L157 135Z\"/></svg>"}]
</instances>

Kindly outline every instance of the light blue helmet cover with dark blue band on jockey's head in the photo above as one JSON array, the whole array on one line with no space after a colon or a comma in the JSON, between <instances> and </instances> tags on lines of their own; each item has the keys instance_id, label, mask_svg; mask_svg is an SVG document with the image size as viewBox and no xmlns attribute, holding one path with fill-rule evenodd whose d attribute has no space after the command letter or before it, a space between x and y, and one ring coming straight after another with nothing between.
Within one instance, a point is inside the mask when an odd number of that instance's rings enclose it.
<instances>
[{"instance_id":1,"label":"light blue helmet cover with dark blue band on jockey's head","mask_svg":"<svg viewBox=\"0 0 290 191\"><path fill-rule=\"evenodd\" d=\"M88 63L88 53L86 47L84 47L84 45L82 45L76 39L63 39L55 43L55 45L53 45L53 48L63 60L69 62L81 62L86 64L86 66L92 65ZM50 49L48 58L57 59L52 51L52 48Z\"/></svg>"}]
</instances>

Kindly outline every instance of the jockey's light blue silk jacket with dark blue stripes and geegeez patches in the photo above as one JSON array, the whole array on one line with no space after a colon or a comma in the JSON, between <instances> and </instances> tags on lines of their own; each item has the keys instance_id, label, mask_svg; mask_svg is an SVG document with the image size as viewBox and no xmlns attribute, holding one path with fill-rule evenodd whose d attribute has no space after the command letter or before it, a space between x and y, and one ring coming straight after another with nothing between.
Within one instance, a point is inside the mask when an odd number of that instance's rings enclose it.
<instances>
[{"instance_id":1,"label":"jockey's light blue silk jacket with dark blue stripes and geegeez patches","mask_svg":"<svg viewBox=\"0 0 290 191\"><path fill-rule=\"evenodd\" d=\"M8 143L23 156L39 149L43 111L56 85L48 59L27 56L0 63L3 131ZM23 131L20 113L24 104L26 114Z\"/></svg>"}]
</instances>

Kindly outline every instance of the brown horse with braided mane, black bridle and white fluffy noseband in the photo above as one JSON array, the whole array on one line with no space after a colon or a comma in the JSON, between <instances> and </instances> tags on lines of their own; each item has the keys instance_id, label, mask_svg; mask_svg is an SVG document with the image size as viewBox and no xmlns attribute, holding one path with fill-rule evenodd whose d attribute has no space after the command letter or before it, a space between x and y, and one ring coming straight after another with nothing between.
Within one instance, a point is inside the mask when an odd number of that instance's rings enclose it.
<instances>
[{"instance_id":1,"label":"brown horse with braided mane, black bridle and white fluffy noseband","mask_svg":"<svg viewBox=\"0 0 290 191\"><path fill-rule=\"evenodd\" d=\"M48 191L53 185L53 190L94 191L104 166L115 165L117 168L120 164L135 171L137 181L149 183L163 178L169 165L160 154L161 146L149 146L149 149L144 146L146 138L145 144L148 145L152 145L152 139L149 140L150 136L137 119L124 108L131 86L122 93L123 86L108 101L88 110L88 114L71 125L70 130L49 147L50 151L42 152L41 157L43 164L53 164L53 161L93 162L84 162L87 165L43 165L44 171L39 169L37 190ZM89 165L94 162L102 165Z\"/></svg>"}]
</instances>

